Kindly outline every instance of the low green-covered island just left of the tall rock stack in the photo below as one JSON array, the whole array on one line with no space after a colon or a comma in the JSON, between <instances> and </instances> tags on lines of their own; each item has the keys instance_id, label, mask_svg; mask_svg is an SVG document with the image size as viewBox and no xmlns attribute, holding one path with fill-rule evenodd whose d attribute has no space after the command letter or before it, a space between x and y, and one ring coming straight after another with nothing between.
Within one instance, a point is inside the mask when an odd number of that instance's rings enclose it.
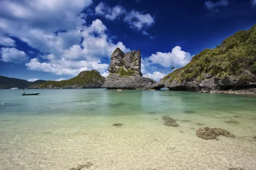
<instances>
[{"instance_id":1,"label":"low green-covered island just left of the tall rock stack","mask_svg":"<svg viewBox=\"0 0 256 170\"><path fill-rule=\"evenodd\" d=\"M102 77L99 74L99 71L91 70L91 71L82 71L76 77L73 77L68 80L47 81L41 85L35 85L35 86L39 86L40 88L61 88L61 87L66 87L71 85L78 85L80 87L83 87L88 84L102 85L104 81L105 81L105 77ZM32 88L35 88L35 86L33 86Z\"/></svg>"}]
</instances>

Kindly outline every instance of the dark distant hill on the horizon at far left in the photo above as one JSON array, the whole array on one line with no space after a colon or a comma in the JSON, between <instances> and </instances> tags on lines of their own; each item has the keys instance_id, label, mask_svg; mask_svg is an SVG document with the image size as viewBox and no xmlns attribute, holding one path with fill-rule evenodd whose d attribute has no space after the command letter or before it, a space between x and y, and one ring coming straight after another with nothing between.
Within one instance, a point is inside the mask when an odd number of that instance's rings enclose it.
<instances>
[{"instance_id":1,"label":"dark distant hill on the horizon at far left","mask_svg":"<svg viewBox=\"0 0 256 170\"><path fill-rule=\"evenodd\" d=\"M29 82L23 79L0 76L0 89L9 89L13 87L28 88L31 85L41 84L43 82L46 82L46 81L36 80L35 82Z\"/></svg>"}]
</instances>

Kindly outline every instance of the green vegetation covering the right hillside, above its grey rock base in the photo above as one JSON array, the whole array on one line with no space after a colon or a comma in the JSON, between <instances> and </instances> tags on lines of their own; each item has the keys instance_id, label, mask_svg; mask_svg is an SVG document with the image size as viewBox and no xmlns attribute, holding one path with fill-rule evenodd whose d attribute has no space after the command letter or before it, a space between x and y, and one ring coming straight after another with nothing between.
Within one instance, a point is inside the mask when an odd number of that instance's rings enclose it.
<instances>
[{"instance_id":1,"label":"green vegetation covering the right hillside, above its grey rock base","mask_svg":"<svg viewBox=\"0 0 256 170\"><path fill-rule=\"evenodd\" d=\"M205 49L195 55L183 68L164 77L176 80L200 82L205 74L219 78L238 78L255 81L256 78L256 25L248 31L239 31L226 38L214 49Z\"/></svg>"}]
</instances>

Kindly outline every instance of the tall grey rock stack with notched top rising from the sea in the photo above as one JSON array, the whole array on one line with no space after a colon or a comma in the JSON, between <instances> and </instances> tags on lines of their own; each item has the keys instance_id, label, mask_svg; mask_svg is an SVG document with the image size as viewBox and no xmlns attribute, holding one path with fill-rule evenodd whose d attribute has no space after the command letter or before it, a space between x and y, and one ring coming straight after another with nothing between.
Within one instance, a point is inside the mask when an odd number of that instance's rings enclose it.
<instances>
[{"instance_id":1,"label":"tall grey rock stack with notched top rising from the sea","mask_svg":"<svg viewBox=\"0 0 256 170\"><path fill-rule=\"evenodd\" d=\"M149 89L154 80L142 77L140 50L124 53L116 48L111 55L109 76L102 87L108 89Z\"/></svg>"}]
</instances>

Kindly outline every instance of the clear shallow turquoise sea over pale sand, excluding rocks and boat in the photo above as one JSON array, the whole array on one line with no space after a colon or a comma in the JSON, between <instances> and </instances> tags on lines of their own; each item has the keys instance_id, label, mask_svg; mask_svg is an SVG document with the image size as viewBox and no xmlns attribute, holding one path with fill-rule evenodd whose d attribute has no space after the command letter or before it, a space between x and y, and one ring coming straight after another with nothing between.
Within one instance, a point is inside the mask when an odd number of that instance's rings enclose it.
<instances>
[{"instance_id":1,"label":"clear shallow turquoise sea over pale sand, excluding rocks and boat","mask_svg":"<svg viewBox=\"0 0 256 170\"><path fill-rule=\"evenodd\" d=\"M25 90L38 96L21 92L0 90L5 103L0 105L0 170L68 170L83 164L84 170L256 170L255 96L106 89ZM179 126L164 125L163 116ZM195 133L201 127L223 128L236 138L204 140Z\"/></svg>"}]
</instances>

